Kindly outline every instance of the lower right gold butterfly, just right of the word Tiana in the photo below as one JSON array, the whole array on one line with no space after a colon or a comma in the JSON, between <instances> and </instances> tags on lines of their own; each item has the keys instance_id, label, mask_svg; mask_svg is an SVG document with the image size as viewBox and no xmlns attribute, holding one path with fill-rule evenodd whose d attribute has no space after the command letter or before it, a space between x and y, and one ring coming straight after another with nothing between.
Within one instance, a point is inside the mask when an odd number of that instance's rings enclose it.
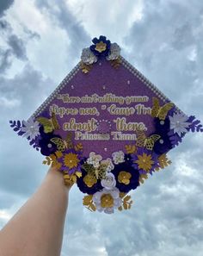
<instances>
[{"instance_id":1,"label":"lower right gold butterfly, just right of the word Tiana","mask_svg":"<svg viewBox=\"0 0 203 256\"><path fill-rule=\"evenodd\" d=\"M149 150L152 150L154 147L154 143L161 138L158 134L152 134L150 137L146 137L144 131L138 130L137 134L137 147L146 147Z\"/></svg>"}]
</instances>

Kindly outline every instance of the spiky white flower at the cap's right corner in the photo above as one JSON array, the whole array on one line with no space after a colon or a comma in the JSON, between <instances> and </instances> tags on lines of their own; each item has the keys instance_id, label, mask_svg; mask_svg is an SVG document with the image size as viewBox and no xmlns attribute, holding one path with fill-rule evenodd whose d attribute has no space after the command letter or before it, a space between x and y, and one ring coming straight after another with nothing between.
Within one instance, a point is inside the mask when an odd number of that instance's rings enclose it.
<instances>
[{"instance_id":1,"label":"spiky white flower at the cap's right corner","mask_svg":"<svg viewBox=\"0 0 203 256\"><path fill-rule=\"evenodd\" d=\"M187 128L191 124L190 122L187 122L187 120L188 116L182 113L169 116L170 129L174 129L174 133L177 133L179 136L181 136L182 133L187 133Z\"/></svg>"}]
</instances>

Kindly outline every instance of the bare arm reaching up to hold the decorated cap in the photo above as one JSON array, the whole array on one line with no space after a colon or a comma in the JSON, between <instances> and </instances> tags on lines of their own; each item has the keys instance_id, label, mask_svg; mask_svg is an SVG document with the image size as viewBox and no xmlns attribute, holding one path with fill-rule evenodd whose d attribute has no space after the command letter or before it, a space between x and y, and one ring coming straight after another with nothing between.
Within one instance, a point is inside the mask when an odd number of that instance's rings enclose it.
<instances>
[{"instance_id":1,"label":"bare arm reaching up to hold the decorated cap","mask_svg":"<svg viewBox=\"0 0 203 256\"><path fill-rule=\"evenodd\" d=\"M54 168L0 231L1 256L59 256L69 190Z\"/></svg>"}]
</instances>

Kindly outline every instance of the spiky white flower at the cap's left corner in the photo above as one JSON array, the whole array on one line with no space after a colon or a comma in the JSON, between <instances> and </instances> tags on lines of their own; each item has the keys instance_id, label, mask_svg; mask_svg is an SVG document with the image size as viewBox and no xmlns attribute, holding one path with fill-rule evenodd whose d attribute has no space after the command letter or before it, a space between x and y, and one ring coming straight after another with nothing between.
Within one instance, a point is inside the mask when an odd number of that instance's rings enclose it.
<instances>
[{"instance_id":1,"label":"spiky white flower at the cap's left corner","mask_svg":"<svg viewBox=\"0 0 203 256\"><path fill-rule=\"evenodd\" d=\"M37 135L40 135L39 122L34 122L34 119L32 117L30 117L28 121L23 120L22 124L24 125L24 127L21 128L22 132L24 132L24 134L22 134L22 137L26 137L27 139L28 137L30 137L29 140L34 140Z\"/></svg>"}]
</instances>

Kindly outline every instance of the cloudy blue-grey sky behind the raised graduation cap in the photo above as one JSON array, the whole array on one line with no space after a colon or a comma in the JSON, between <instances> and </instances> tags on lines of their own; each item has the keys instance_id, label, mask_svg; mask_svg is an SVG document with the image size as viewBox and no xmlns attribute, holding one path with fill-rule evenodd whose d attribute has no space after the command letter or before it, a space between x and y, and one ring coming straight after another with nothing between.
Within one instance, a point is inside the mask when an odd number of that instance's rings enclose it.
<instances>
[{"instance_id":1,"label":"cloudy blue-grey sky behind the raised graduation cap","mask_svg":"<svg viewBox=\"0 0 203 256\"><path fill-rule=\"evenodd\" d=\"M184 113L203 121L200 0L0 1L0 228L42 182L43 156L9 128L27 119L106 35ZM172 165L133 190L132 209L83 207L74 186L61 256L201 256L203 134L187 134Z\"/></svg>"}]
</instances>

